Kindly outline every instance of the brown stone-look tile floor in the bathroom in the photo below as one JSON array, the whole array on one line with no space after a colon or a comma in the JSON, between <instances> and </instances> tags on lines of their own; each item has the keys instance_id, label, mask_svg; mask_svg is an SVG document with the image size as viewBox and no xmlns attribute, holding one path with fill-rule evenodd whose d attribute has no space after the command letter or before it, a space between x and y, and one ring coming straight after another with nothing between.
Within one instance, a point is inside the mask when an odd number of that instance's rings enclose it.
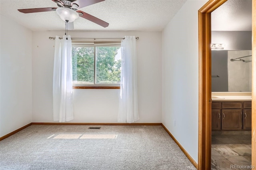
<instances>
[{"instance_id":1,"label":"brown stone-look tile floor in the bathroom","mask_svg":"<svg viewBox=\"0 0 256 170\"><path fill-rule=\"evenodd\" d=\"M250 131L212 132L212 170L250 170L252 162Z\"/></svg>"}]
</instances>

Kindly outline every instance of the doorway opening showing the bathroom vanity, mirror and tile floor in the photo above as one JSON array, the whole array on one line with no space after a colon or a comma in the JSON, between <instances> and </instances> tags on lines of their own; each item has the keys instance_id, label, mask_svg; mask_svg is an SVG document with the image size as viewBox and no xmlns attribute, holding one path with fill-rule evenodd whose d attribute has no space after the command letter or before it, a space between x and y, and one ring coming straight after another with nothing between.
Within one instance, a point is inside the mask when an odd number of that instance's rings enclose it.
<instances>
[{"instance_id":1,"label":"doorway opening showing the bathroom vanity, mirror and tile floor","mask_svg":"<svg viewBox=\"0 0 256 170\"><path fill-rule=\"evenodd\" d=\"M211 169L250 166L252 0L228 0L211 13L211 43Z\"/></svg>"}]
</instances>

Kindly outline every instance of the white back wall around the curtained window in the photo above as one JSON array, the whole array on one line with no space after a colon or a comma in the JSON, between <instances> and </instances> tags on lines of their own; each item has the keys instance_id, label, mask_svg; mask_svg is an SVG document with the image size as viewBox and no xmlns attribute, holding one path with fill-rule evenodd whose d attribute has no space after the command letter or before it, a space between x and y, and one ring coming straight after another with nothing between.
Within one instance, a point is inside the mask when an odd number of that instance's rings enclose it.
<instances>
[{"instance_id":1,"label":"white back wall around the curtained window","mask_svg":"<svg viewBox=\"0 0 256 170\"><path fill-rule=\"evenodd\" d=\"M144 31L69 31L71 37L105 38L135 35L138 57L138 103L140 120L161 122L162 113L162 37L161 32ZM32 38L32 113L33 122L53 122L52 74L54 40L63 31L34 32ZM74 89L74 120L71 122L114 123L118 116L116 89Z\"/></svg>"}]
</instances>

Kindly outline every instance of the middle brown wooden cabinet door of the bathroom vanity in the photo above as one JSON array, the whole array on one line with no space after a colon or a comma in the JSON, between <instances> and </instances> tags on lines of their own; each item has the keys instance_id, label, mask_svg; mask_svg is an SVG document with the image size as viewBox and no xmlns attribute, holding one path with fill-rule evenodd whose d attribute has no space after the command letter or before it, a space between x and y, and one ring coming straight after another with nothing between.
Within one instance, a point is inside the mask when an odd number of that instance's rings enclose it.
<instances>
[{"instance_id":1,"label":"middle brown wooden cabinet door of the bathroom vanity","mask_svg":"<svg viewBox=\"0 0 256 170\"><path fill-rule=\"evenodd\" d=\"M242 109L222 109L223 130L240 130L242 129Z\"/></svg>"}]
</instances>

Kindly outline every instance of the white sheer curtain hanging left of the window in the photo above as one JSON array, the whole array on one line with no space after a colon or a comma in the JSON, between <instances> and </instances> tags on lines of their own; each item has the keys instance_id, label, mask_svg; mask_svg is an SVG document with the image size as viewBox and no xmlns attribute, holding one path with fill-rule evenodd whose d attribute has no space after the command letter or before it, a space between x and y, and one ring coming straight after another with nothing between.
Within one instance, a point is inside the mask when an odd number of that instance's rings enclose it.
<instances>
[{"instance_id":1,"label":"white sheer curtain hanging left of the window","mask_svg":"<svg viewBox=\"0 0 256 170\"><path fill-rule=\"evenodd\" d=\"M73 119L71 51L70 35L63 36L63 39L56 36L53 69L54 121L64 122Z\"/></svg>"}]
</instances>

